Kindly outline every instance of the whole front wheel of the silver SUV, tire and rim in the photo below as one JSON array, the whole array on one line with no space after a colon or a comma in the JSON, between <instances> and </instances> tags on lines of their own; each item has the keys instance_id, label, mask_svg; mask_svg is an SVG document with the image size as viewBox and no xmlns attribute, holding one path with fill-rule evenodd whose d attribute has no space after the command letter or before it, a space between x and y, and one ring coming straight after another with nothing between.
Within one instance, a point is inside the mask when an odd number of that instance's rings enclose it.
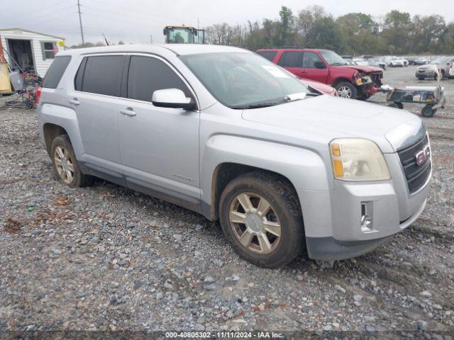
<instances>
[{"instance_id":1,"label":"whole front wheel of the silver SUV, tire and rim","mask_svg":"<svg viewBox=\"0 0 454 340\"><path fill-rule=\"evenodd\" d=\"M278 176L253 171L233 179L221 194L221 226L233 249L257 266L275 268L304 250L301 208L293 188Z\"/></svg>"}]
</instances>

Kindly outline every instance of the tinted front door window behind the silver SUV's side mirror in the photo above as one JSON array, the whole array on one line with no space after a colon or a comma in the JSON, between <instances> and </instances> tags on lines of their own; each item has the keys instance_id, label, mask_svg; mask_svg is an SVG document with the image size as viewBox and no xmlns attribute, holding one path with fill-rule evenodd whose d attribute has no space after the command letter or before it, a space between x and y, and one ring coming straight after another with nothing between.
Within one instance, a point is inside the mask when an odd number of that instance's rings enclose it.
<instances>
[{"instance_id":1,"label":"tinted front door window behind the silver SUV's side mirror","mask_svg":"<svg viewBox=\"0 0 454 340\"><path fill-rule=\"evenodd\" d=\"M151 101L153 92L162 89L180 89L192 97L182 79L165 62L152 57L131 57L128 98Z\"/></svg>"}]
</instances>

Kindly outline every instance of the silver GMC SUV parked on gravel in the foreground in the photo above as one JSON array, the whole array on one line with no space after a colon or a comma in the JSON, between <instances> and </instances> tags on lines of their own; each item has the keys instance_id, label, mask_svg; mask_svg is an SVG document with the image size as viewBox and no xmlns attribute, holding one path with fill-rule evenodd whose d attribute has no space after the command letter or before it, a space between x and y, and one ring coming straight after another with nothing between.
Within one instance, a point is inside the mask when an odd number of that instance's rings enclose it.
<instances>
[{"instance_id":1,"label":"silver GMC SUV parked on gravel in the foreground","mask_svg":"<svg viewBox=\"0 0 454 340\"><path fill-rule=\"evenodd\" d=\"M364 254L426 205L416 115L315 93L235 47L60 52L38 118L60 181L96 176L219 220L259 266Z\"/></svg>"}]
</instances>

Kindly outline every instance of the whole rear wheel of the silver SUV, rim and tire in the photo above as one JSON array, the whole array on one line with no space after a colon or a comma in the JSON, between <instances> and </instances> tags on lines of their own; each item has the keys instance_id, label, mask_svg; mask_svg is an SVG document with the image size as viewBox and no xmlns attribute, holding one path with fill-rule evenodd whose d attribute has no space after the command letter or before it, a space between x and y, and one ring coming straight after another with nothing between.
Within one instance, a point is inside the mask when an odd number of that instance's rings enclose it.
<instances>
[{"instance_id":1,"label":"whole rear wheel of the silver SUV, rim and tire","mask_svg":"<svg viewBox=\"0 0 454 340\"><path fill-rule=\"evenodd\" d=\"M60 135L52 140L50 155L54 165L55 177L69 186L89 186L93 177L82 174L67 135Z\"/></svg>"}]
</instances>

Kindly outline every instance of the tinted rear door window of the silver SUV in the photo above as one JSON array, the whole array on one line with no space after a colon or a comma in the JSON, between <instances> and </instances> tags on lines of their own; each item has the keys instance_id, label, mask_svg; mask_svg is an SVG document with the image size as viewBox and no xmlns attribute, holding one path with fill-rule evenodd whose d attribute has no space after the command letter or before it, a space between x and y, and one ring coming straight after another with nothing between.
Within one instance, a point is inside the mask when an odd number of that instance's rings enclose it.
<instances>
[{"instance_id":1,"label":"tinted rear door window of the silver SUV","mask_svg":"<svg viewBox=\"0 0 454 340\"><path fill-rule=\"evenodd\" d=\"M125 57L121 55L88 57L82 81L82 91L92 94L120 96L124 60Z\"/></svg>"}]
</instances>

